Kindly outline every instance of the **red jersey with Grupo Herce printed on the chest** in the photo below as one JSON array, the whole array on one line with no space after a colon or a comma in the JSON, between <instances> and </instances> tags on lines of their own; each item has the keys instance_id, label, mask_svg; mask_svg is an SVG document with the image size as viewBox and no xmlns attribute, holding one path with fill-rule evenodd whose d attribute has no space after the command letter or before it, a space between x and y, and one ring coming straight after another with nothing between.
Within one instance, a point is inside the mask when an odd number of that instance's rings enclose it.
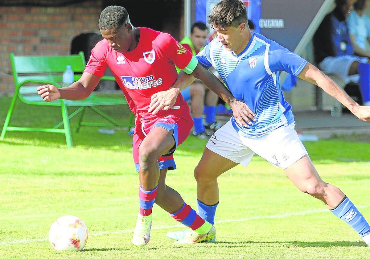
<instances>
[{"instance_id":1,"label":"red jersey with Grupo Herce printed on the chest","mask_svg":"<svg viewBox=\"0 0 370 259\"><path fill-rule=\"evenodd\" d=\"M112 70L131 111L136 115L136 124L171 114L189 117L188 104L181 94L169 111L153 115L148 109L151 96L168 90L176 81L175 64L181 69L189 64L191 52L167 33L150 28L139 29L139 43L132 51L118 53L106 39L99 41L91 50L85 72L102 77L107 67Z\"/></svg>"}]
</instances>

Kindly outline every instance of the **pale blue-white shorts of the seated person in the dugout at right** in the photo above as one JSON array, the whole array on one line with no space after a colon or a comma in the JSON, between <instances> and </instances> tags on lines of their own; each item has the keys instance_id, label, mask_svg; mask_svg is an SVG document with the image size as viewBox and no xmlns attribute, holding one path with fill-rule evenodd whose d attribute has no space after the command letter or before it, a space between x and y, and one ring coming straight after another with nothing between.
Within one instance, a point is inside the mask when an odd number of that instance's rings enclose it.
<instances>
[{"instance_id":1,"label":"pale blue-white shorts of the seated person in the dugout at right","mask_svg":"<svg viewBox=\"0 0 370 259\"><path fill-rule=\"evenodd\" d=\"M357 57L354 55L326 57L320 62L319 68L324 73L336 74L342 78L346 84L348 84L350 81L358 83L360 80L360 75L348 75L349 68L354 61L359 63L367 63L369 58Z\"/></svg>"}]
</instances>

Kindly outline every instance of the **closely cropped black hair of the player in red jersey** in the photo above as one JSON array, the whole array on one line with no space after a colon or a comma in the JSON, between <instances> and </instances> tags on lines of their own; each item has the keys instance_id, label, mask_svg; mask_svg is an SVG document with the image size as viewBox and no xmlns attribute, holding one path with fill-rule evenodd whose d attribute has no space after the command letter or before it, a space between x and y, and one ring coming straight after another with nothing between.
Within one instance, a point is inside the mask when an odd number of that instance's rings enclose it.
<instances>
[{"instance_id":1,"label":"closely cropped black hair of the player in red jersey","mask_svg":"<svg viewBox=\"0 0 370 259\"><path fill-rule=\"evenodd\" d=\"M128 13L122 6L107 6L100 13L100 30L117 30L128 20Z\"/></svg>"}]
</instances>

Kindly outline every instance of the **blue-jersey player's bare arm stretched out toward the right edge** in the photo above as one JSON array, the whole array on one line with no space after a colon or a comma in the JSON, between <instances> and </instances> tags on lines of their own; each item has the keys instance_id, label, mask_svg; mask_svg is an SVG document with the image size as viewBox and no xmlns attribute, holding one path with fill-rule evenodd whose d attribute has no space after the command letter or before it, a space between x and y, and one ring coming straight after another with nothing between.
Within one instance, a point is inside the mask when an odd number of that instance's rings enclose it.
<instances>
[{"instance_id":1,"label":"blue-jersey player's bare arm stretched out toward the right edge","mask_svg":"<svg viewBox=\"0 0 370 259\"><path fill-rule=\"evenodd\" d=\"M322 88L322 90L347 107L359 120L370 121L370 107L357 104L333 80L324 75L314 65L307 63L298 77Z\"/></svg>"}]
</instances>

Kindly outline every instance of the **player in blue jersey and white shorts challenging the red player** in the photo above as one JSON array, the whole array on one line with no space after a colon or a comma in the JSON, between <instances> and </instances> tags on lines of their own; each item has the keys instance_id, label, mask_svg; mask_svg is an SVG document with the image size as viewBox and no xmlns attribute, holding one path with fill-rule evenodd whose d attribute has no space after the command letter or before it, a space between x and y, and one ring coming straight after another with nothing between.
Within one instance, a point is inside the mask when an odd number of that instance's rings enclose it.
<instances>
[{"instance_id":1,"label":"player in blue jersey and white shorts challenging the red player","mask_svg":"<svg viewBox=\"0 0 370 259\"><path fill-rule=\"evenodd\" d=\"M354 102L330 78L303 58L275 41L251 33L245 5L239 0L222 0L208 17L217 32L197 56L205 67L213 66L233 96L244 102L256 121L231 118L206 144L195 168L198 213L213 223L219 201L217 177L238 164L247 166L254 154L284 169L302 192L320 199L337 217L347 222L370 246L370 226L353 203L337 187L324 182L314 168L305 147L297 137L292 107L280 90L279 72L321 87L346 106L360 120L370 121L370 107ZM194 80L180 74L172 89L152 97L149 110L168 109L174 96ZM182 239L188 231L169 232L169 238Z\"/></svg>"}]
</instances>

